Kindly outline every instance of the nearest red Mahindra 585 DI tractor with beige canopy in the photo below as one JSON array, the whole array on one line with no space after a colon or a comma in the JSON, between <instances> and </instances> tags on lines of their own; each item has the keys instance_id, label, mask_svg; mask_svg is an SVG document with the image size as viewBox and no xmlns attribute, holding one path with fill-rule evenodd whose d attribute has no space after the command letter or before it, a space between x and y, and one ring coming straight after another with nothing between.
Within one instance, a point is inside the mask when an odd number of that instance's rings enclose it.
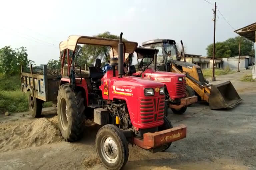
<instances>
[{"instance_id":1,"label":"nearest red Mahindra 585 DI tractor with beige canopy","mask_svg":"<svg viewBox=\"0 0 256 170\"><path fill-rule=\"evenodd\" d=\"M77 44L110 46L113 56L118 58L110 59L112 69L108 71L103 71L101 60L96 59L88 74L75 74L79 67L74 64ZM137 42L122 42L122 33L120 40L69 36L60 43L62 78L57 113L61 134L65 140L75 141L81 137L85 120L101 125L95 140L96 151L108 169L121 169L126 164L128 143L164 151L173 141L186 137L186 126L173 128L164 116L163 83L123 75L124 54L132 54L137 45Z\"/></svg>"}]
</instances>

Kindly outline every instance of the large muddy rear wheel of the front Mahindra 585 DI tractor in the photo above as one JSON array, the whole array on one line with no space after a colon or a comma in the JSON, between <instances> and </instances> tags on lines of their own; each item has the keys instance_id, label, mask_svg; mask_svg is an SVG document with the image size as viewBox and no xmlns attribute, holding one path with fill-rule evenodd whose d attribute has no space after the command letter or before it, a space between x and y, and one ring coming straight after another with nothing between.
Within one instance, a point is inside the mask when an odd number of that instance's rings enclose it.
<instances>
[{"instance_id":1,"label":"large muddy rear wheel of the front Mahindra 585 DI tractor","mask_svg":"<svg viewBox=\"0 0 256 170\"><path fill-rule=\"evenodd\" d=\"M57 100L61 135L66 141L76 141L81 137L85 120L83 93L73 92L69 84L63 84L59 87Z\"/></svg>"}]
</instances>

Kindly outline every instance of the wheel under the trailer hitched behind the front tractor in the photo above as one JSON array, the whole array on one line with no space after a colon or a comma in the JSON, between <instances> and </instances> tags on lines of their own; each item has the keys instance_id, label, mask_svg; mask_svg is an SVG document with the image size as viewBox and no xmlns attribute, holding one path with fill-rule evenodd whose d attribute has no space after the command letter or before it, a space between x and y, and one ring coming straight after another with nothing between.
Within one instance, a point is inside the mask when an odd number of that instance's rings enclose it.
<instances>
[{"instance_id":1,"label":"wheel under the trailer hitched behind the front tractor","mask_svg":"<svg viewBox=\"0 0 256 170\"><path fill-rule=\"evenodd\" d=\"M41 117L43 101L33 97L30 91L28 92L28 106L33 118Z\"/></svg>"}]
</instances>

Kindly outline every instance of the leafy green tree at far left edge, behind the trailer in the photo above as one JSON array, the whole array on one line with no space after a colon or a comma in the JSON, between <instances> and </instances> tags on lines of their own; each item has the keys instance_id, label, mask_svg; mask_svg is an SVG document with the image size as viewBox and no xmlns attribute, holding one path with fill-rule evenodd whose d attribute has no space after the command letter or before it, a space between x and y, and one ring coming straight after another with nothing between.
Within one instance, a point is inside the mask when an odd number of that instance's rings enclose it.
<instances>
[{"instance_id":1,"label":"leafy green tree at far left edge, behind the trailer","mask_svg":"<svg viewBox=\"0 0 256 170\"><path fill-rule=\"evenodd\" d=\"M0 49L0 72L5 76L18 74L20 65L26 68L30 61L25 47L12 49L5 46Z\"/></svg>"}]
</instances>

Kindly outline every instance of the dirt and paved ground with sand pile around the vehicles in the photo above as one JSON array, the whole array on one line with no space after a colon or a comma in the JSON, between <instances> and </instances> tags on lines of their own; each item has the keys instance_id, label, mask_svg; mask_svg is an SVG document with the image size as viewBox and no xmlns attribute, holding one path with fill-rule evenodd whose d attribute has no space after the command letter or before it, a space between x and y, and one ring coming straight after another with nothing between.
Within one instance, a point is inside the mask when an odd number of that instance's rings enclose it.
<instances>
[{"instance_id":1,"label":"dirt and paved ground with sand pile around the vehicles","mask_svg":"<svg viewBox=\"0 0 256 170\"><path fill-rule=\"evenodd\" d=\"M209 109L193 104L185 114L168 119L174 126L185 124L187 138L173 142L166 152L155 154L129 146L125 170L247 170L256 169L256 82L239 79L251 70L216 77L230 80L242 104L230 110ZM97 125L86 127L82 140L65 142L60 136L56 109L43 110L44 118L28 113L0 115L0 169L92 169L105 170L97 158L94 140ZM88 124L89 125L89 124Z\"/></svg>"}]
</instances>

